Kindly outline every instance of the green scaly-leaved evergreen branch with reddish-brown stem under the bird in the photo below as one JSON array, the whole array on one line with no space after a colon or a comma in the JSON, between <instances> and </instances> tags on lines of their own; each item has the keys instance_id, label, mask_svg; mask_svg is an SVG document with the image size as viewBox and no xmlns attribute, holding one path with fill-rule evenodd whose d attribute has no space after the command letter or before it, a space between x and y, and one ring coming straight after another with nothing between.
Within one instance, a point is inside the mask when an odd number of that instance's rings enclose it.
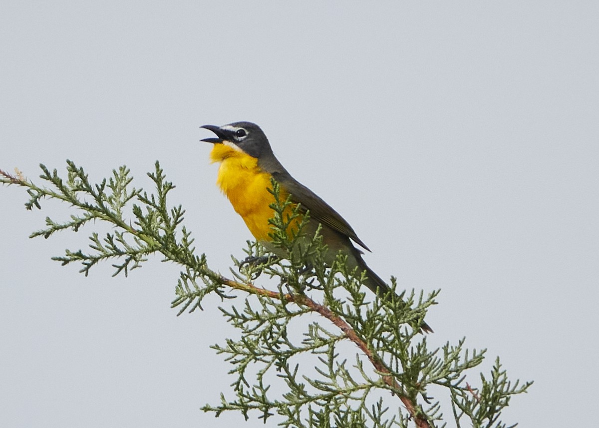
<instances>
[{"instance_id":1,"label":"green scaly-leaved evergreen branch with reddish-brown stem under the bird","mask_svg":"<svg viewBox=\"0 0 599 428\"><path fill-rule=\"evenodd\" d=\"M126 276L149 255L161 254L163 261L181 266L172 302L177 315L201 309L208 294L224 300L235 297L231 289L241 292L241 299L220 308L238 337L213 346L231 363L235 380L219 403L202 408L206 412L235 411L264 422L273 417L282 427L323 428L442 427L450 414L458 427L504 428L501 412L532 384L509 381L499 358L490 375L480 373L478 386L467 382L485 349L466 349L464 339L429 349L418 328L438 291L429 296L403 292L384 300L365 293L360 287L364 273L348 270L341 255L333 266L323 263L325 246L318 233L305 237L300 227L297 236L287 236L289 222L300 213L283 215L290 202L280 200L276 182L273 240L289 258L265 254L259 243L248 242L247 257L234 258L235 270L226 278L208 267L204 254L196 254L183 226L183 208L167 204L174 186L158 162L148 174L150 193L131 186L124 166L97 184L71 161L65 179L40 166L46 186L19 171L0 170L0 181L26 188L27 209L41 209L41 201L50 198L68 203L74 213L66 221L46 218L46 226L31 237L78 231L93 221L113 227L105 236L92 233L86 252L66 250L53 260L81 263L85 275L102 261L116 261L114 275ZM394 278L391 284L396 290ZM451 412L442 411L440 399Z\"/></svg>"}]
</instances>

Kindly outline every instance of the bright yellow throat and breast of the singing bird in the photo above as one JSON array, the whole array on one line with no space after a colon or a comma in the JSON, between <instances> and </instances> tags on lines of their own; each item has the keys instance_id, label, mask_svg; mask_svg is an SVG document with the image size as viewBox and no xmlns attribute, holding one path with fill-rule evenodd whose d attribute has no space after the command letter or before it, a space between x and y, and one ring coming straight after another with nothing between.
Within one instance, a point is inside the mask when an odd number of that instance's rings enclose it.
<instances>
[{"instance_id":1,"label":"bright yellow throat and breast of the singing bird","mask_svg":"<svg viewBox=\"0 0 599 428\"><path fill-rule=\"evenodd\" d=\"M214 144L210 159L220 162L216 184L246 222L247 228L256 240L270 241L268 234L271 233L271 225L268 220L274 216L270 204L275 201L268 191L272 186L271 174L258 166L258 159L226 143ZM287 197L288 194L282 190L281 200ZM289 206L285 214L291 215L291 212L292 207Z\"/></svg>"}]
</instances>

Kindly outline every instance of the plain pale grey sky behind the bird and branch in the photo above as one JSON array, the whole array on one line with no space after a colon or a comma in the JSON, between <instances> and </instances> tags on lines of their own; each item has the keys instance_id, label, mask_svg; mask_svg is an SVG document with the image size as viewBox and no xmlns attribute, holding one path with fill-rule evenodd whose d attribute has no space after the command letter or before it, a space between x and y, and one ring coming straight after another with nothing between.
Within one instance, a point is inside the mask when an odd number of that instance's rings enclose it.
<instances>
[{"instance_id":1,"label":"plain pale grey sky behind the bird and branch","mask_svg":"<svg viewBox=\"0 0 599 428\"><path fill-rule=\"evenodd\" d=\"M598 5L4 0L0 168L40 182L40 162L72 159L94 180L126 164L150 188L158 159L198 250L226 273L250 233L198 127L256 122L379 275L442 289L431 345L466 336L489 349L485 372L500 355L512 379L536 382L504 421L589 426ZM129 278L61 267L50 257L85 248L93 225L28 239L68 210L25 200L0 189L0 426L263 426L199 410L232 396L208 347L230 331L217 299L177 318L179 269L158 258Z\"/></svg>"}]
</instances>

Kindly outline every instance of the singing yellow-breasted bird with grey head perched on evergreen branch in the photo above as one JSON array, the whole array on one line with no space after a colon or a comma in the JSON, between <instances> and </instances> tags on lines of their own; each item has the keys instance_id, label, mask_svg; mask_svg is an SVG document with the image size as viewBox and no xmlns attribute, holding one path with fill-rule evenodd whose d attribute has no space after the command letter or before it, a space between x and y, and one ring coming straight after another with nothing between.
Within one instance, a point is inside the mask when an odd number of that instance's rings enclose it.
<instances>
[{"instance_id":1,"label":"singing yellow-breasted bird with grey head perched on evergreen branch","mask_svg":"<svg viewBox=\"0 0 599 428\"><path fill-rule=\"evenodd\" d=\"M353 246L352 241L367 251L370 249L337 211L288 173L274 156L268 138L258 125L234 122L223 126L204 125L201 128L216 134L216 138L204 138L202 141L214 144L210 159L212 162L220 162L217 185L229 198L256 240L268 251L275 254L281 251L270 242L269 236L272 226L268 220L274 216L270 204L275 200L268 189L271 188L273 178L279 183L281 200L291 195L291 201L299 204L300 210L310 212L310 221L307 230L304 230L308 236L313 236L318 224L322 224L320 234L328 246L326 263L332 263L341 251L347 256L347 266L350 269L358 267L366 272L366 287L381 297L392 292L389 285L367 266L362 259L364 253ZM291 214L292 208L288 207L288 210ZM432 332L425 322L420 327Z\"/></svg>"}]
</instances>

